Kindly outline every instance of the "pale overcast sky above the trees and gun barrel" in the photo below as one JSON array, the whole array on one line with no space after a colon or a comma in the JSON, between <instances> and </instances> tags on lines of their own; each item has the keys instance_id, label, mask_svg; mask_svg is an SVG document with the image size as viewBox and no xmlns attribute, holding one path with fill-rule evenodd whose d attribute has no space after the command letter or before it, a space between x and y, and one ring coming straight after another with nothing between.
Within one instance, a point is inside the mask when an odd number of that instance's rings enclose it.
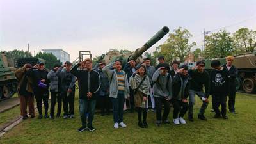
<instances>
[{"instance_id":1,"label":"pale overcast sky above the trees and gun barrel","mask_svg":"<svg viewBox=\"0 0 256 144\"><path fill-rule=\"evenodd\" d=\"M170 33L179 26L188 29L193 35L189 43L202 49L204 28L212 33L223 28L256 31L256 1L0 0L0 51L28 51L29 43L33 55L60 48L74 61L79 51L91 51L93 57L109 49L135 51L163 26Z\"/></svg>"}]
</instances>

